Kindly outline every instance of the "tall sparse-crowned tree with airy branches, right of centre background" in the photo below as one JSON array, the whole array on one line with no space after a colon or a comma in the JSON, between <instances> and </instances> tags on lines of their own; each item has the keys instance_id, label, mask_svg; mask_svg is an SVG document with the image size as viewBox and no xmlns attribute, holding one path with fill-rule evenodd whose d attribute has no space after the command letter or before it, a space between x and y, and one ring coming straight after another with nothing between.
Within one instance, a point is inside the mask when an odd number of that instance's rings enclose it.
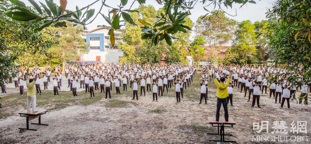
<instances>
[{"instance_id":1,"label":"tall sparse-crowned tree with airy branches, right of centre background","mask_svg":"<svg viewBox=\"0 0 311 144\"><path fill-rule=\"evenodd\" d=\"M216 62L220 49L234 36L236 21L225 16L225 12L213 11L212 15L200 16L197 21L195 32L198 36L204 36L210 48L209 59Z\"/></svg>"}]
</instances>

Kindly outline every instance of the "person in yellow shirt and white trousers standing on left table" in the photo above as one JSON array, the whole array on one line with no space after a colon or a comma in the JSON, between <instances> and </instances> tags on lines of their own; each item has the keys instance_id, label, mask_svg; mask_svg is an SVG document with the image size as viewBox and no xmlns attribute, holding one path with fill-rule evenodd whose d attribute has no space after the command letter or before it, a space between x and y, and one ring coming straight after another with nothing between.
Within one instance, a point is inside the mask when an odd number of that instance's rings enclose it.
<instances>
[{"instance_id":1,"label":"person in yellow shirt and white trousers standing on left table","mask_svg":"<svg viewBox=\"0 0 311 144\"><path fill-rule=\"evenodd\" d=\"M27 112L30 112L30 107L32 105L32 112L38 112L36 110L36 91L35 91L35 81L38 79L39 74L36 74L35 79L29 79L26 81L27 86Z\"/></svg>"}]
</instances>

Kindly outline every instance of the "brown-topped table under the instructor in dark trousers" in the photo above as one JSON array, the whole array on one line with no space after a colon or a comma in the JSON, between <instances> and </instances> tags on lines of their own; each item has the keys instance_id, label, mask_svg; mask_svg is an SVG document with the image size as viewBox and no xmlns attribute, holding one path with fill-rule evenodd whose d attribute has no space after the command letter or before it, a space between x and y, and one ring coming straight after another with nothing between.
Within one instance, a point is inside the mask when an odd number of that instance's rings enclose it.
<instances>
[{"instance_id":1,"label":"brown-topped table under the instructor in dark trousers","mask_svg":"<svg viewBox=\"0 0 311 144\"><path fill-rule=\"evenodd\" d=\"M229 118L228 122L225 121L225 117L220 117L219 121L215 121L216 117L207 117L208 122L212 125L212 127L217 127L217 133L207 133L207 134L220 134L220 140L209 140L209 141L219 141L219 142L236 142L236 141L226 141L226 136L232 136L232 134L226 134L225 133L225 127L233 127L236 123L232 118ZM219 131L220 127L220 131Z\"/></svg>"}]
</instances>

